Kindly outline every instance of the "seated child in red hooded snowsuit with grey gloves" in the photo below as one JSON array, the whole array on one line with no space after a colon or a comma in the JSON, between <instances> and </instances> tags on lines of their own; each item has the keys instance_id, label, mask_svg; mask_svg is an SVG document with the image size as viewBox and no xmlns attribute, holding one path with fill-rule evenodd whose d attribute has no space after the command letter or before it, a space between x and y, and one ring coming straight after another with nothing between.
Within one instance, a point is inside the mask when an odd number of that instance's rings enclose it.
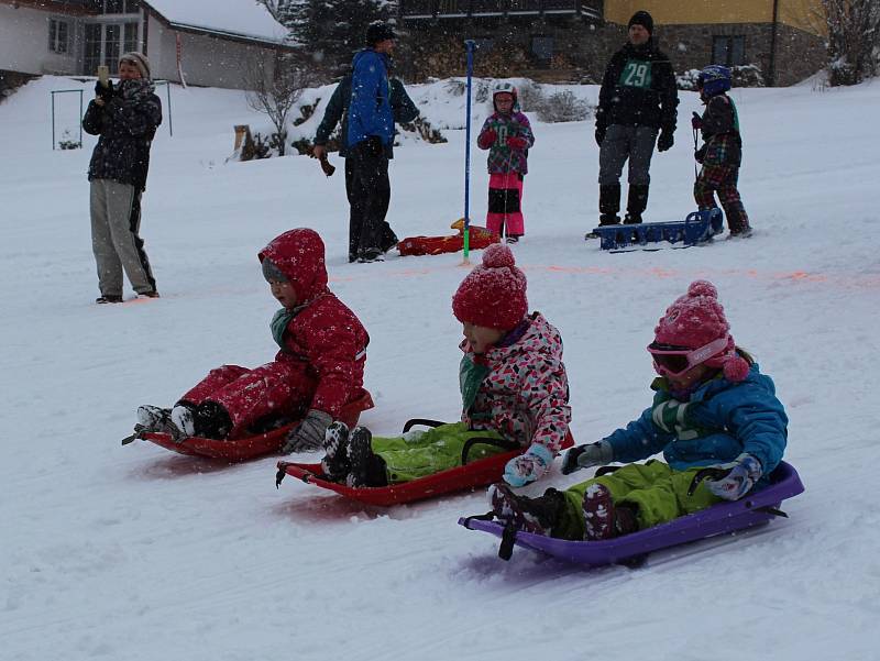
<instances>
[{"instance_id":1,"label":"seated child in red hooded snowsuit with grey gloves","mask_svg":"<svg viewBox=\"0 0 880 661\"><path fill-rule=\"evenodd\" d=\"M223 365L187 392L173 409L142 406L146 431L176 438L235 439L255 425L302 421L284 452L321 448L342 407L363 396L366 345L361 321L327 287L324 247L317 232L290 230L258 253L263 276L282 306L271 329L280 351L254 370Z\"/></svg>"}]
</instances>

